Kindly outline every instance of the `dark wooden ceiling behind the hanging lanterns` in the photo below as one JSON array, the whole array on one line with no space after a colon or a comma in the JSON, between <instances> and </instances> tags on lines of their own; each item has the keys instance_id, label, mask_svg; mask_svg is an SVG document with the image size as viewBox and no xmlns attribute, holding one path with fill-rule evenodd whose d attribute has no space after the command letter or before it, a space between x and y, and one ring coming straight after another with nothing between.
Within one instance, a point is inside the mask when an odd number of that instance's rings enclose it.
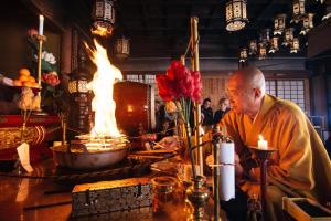
<instances>
[{"instance_id":1,"label":"dark wooden ceiling behind the hanging lanterns","mask_svg":"<svg viewBox=\"0 0 331 221\"><path fill-rule=\"evenodd\" d=\"M81 22L90 25L93 0L65 1L72 14L81 14ZM273 28L278 13L291 17L290 0L247 0L249 23L237 32L225 29L225 0L117 0L116 28L110 36L125 34L130 39L131 57L179 57L185 52L190 38L190 18L199 18L200 55L203 57L236 57L241 48L257 39L261 29ZM76 11L76 12L73 12ZM307 0L306 10L314 12L318 24L324 6ZM288 18L288 23L289 23ZM297 32L299 32L299 27ZM296 33L298 34L298 33ZM302 48L305 38L301 38ZM281 49L274 56L305 56L302 50L290 54Z\"/></svg>"}]
</instances>

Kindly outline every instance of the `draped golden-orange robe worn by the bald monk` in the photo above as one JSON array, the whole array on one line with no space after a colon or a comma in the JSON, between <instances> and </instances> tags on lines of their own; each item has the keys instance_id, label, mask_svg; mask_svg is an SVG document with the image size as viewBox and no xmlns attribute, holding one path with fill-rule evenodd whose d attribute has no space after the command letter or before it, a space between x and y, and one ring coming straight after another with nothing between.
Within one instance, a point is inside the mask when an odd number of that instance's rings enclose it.
<instances>
[{"instance_id":1,"label":"draped golden-orange robe worn by the bald monk","mask_svg":"<svg viewBox=\"0 0 331 221\"><path fill-rule=\"evenodd\" d=\"M227 113L221 126L227 127L243 160L248 146L257 146L258 135L278 151L268 167L268 181L324 203L331 201L331 162L313 126L293 103L265 95L255 120ZM246 186L247 187L247 186Z\"/></svg>"}]
</instances>

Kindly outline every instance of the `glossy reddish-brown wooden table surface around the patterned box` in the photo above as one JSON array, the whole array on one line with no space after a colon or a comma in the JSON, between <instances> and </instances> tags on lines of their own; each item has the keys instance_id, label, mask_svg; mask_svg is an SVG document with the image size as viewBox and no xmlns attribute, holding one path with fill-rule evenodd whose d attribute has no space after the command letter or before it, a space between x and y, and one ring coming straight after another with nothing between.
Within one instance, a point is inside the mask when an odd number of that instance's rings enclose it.
<instances>
[{"instance_id":1,"label":"glossy reddish-brown wooden table surface around the patterned box","mask_svg":"<svg viewBox=\"0 0 331 221\"><path fill-rule=\"evenodd\" d=\"M0 220L68 220L71 219L71 191L73 185L67 181L54 181L55 167L52 159L33 166L32 178L19 178L0 176ZM53 170L52 170L53 168ZM121 172L124 173L124 172ZM135 172L136 173L136 172ZM8 173L14 175L14 173ZM142 173L140 173L142 175ZM36 177L44 177L38 179ZM46 178L52 177L53 178ZM68 175L67 175L68 176ZM122 175L121 175L122 176ZM125 175L129 176L129 173ZM137 173L139 176L139 172ZM154 176L145 173L143 176ZM109 178L111 179L111 178ZM105 179L105 180L109 180ZM181 200L167 202L162 212L153 212L153 208L143 208L143 215L139 218L137 211L120 211L93 217L82 217L77 220L186 220L192 208L185 202L184 196ZM206 220L212 219L213 202L210 200L204 208ZM136 213L135 213L136 212ZM224 218L224 213L223 213Z\"/></svg>"}]
</instances>

